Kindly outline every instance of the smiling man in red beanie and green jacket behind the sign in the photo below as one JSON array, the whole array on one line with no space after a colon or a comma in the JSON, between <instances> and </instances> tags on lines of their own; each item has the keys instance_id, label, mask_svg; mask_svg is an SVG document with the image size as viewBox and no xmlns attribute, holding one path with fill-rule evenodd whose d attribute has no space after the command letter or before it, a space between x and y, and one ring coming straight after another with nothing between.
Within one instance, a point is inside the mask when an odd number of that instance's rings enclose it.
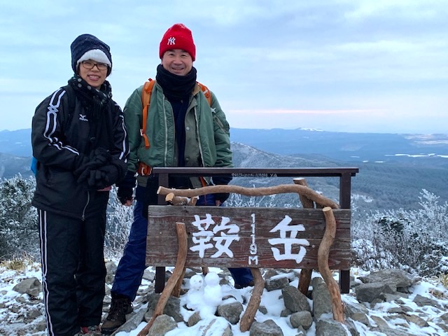
<instances>
[{"instance_id":1,"label":"smiling man in red beanie and green jacket behind the sign","mask_svg":"<svg viewBox=\"0 0 448 336\"><path fill-rule=\"evenodd\" d=\"M132 311L131 302L137 295L144 273L147 234L147 209L158 202L158 179L151 167L233 167L230 151L229 124L218 99L211 92L211 104L196 81L193 67L196 48L190 29L182 24L170 27L160 42L161 64L151 91L146 126L141 125L143 85L127 99L124 113L128 132L130 155L128 173L118 186L118 198L131 205L134 175L134 222L125 246L111 290L109 315L102 332L110 334L125 323L125 315ZM142 136L141 130L144 130ZM149 146L148 146L149 145ZM230 176L216 176L207 184L228 184ZM177 177L169 181L172 188L200 188L200 177ZM200 197L197 205L220 206L229 194L211 194ZM247 268L230 269L235 287L253 285Z\"/></svg>"}]
</instances>

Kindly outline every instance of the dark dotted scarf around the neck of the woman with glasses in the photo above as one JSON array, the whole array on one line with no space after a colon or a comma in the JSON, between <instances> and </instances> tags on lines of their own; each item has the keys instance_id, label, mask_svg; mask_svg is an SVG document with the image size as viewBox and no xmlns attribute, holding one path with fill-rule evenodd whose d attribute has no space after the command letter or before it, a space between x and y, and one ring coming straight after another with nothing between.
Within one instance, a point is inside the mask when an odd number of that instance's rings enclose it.
<instances>
[{"instance_id":1,"label":"dark dotted scarf around the neck of the woman with glasses","mask_svg":"<svg viewBox=\"0 0 448 336\"><path fill-rule=\"evenodd\" d=\"M99 120L102 111L106 109L107 104L112 99L111 84L104 80L104 83L98 89L90 86L78 74L69 79L69 85L75 91L76 97L88 113L88 116L94 120Z\"/></svg>"}]
</instances>

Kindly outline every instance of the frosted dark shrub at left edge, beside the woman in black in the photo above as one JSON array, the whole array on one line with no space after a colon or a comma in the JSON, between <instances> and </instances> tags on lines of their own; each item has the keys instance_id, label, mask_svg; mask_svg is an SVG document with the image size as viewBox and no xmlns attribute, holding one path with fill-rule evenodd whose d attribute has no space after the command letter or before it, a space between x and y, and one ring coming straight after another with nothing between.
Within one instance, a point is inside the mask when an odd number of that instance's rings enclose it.
<instances>
[{"instance_id":1,"label":"frosted dark shrub at left edge, beside the woman in black","mask_svg":"<svg viewBox=\"0 0 448 336\"><path fill-rule=\"evenodd\" d=\"M0 256L13 258L22 253L38 255L36 209L31 200L36 188L34 177L20 174L0 179Z\"/></svg>"}]
</instances>

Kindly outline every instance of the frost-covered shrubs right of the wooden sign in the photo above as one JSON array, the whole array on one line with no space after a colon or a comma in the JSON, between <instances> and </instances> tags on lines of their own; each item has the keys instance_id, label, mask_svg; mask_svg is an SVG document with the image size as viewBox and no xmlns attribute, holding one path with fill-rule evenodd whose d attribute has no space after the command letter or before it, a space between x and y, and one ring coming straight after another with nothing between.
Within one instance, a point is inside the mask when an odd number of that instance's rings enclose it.
<instances>
[{"instance_id":1,"label":"frost-covered shrubs right of the wooden sign","mask_svg":"<svg viewBox=\"0 0 448 336\"><path fill-rule=\"evenodd\" d=\"M430 276L448 272L448 204L423 190L421 209L376 211L353 221L353 262L364 269L397 267Z\"/></svg>"}]
</instances>

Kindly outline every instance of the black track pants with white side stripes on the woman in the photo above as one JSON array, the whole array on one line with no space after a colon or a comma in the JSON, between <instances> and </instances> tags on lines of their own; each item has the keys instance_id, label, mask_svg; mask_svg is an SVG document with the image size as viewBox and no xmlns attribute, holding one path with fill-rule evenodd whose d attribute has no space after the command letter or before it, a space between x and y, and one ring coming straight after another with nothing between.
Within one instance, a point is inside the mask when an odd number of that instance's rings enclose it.
<instances>
[{"instance_id":1,"label":"black track pants with white side stripes on the woman","mask_svg":"<svg viewBox=\"0 0 448 336\"><path fill-rule=\"evenodd\" d=\"M48 335L73 336L101 322L106 211L85 221L42 210L38 216Z\"/></svg>"}]
</instances>

